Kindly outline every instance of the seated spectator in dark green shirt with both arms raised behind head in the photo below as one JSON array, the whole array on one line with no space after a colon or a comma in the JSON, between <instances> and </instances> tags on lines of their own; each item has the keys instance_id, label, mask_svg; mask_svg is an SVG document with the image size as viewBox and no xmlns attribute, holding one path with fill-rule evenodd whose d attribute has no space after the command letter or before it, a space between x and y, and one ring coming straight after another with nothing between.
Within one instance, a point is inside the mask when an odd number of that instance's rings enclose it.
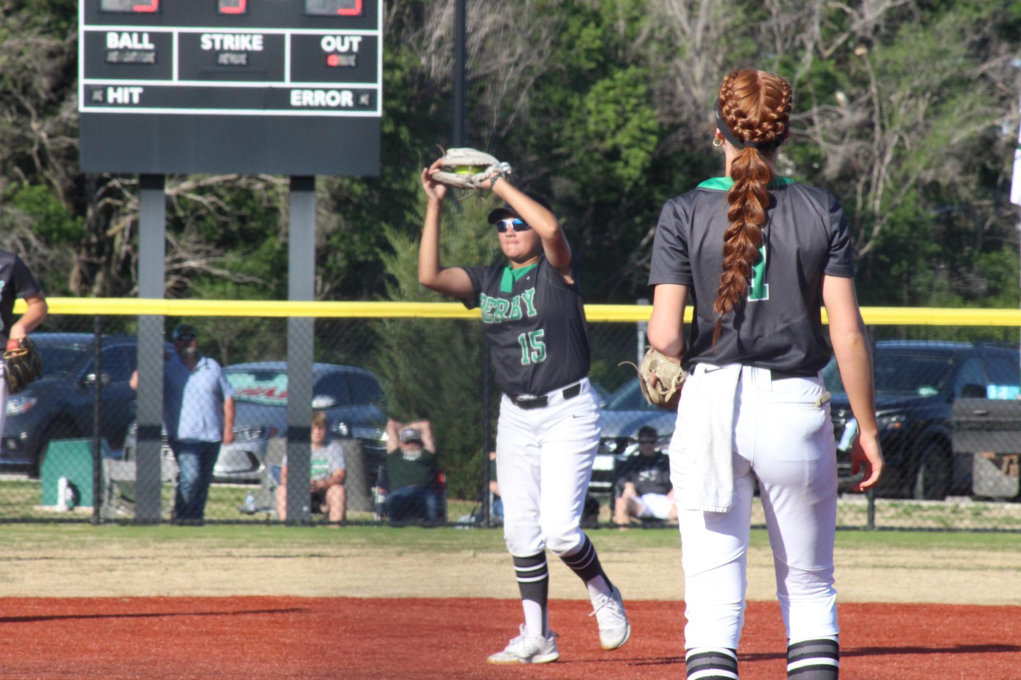
<instances>
[{"instance_id":1,"label":"seated spectator in dark green shirt with both arms raised behind head","mask_svg":"<svg viewBox=\"0 0 1021 680\"><path fill-rule=\"evenodd\" d=\"M436 447L428 420L387 421L387 515L394 522L439 519Z\"/></svg>"}]
</instances>

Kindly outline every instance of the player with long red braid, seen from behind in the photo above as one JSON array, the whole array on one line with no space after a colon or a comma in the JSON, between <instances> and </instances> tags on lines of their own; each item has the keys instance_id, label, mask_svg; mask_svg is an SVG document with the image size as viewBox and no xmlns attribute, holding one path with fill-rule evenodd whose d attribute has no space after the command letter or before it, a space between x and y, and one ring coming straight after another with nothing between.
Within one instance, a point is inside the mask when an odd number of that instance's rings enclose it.
<instances>
[{"instance_id":1,"label":"player with long red braid, seen from behind","mask_svg":"<svg viewBox=\"0 0 1021 680\"><path fill-rule=\"evenodd\" d=\"M872 363L847 224L822 189L775 174L790 86L736 70L717 100L726 176L667 202L657 227L648 338L690 371L670 446L678 499L687 677L737 678L745 554L759 480L786 628L787 674L839 672L833 534L836 454L819 371L831 350L860 423L858 490L882 471ZM684 307L694 306L685 349Z\"/></svg>"}]
</instances>

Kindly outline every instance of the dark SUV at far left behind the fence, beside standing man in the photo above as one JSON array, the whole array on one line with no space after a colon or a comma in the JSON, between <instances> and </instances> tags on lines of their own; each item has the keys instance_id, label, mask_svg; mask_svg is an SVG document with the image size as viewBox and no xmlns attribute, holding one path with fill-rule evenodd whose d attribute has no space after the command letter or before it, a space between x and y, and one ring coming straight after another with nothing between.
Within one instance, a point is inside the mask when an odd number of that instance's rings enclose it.
<instances>
[{"instance_id":1,"label":"dark SUV at far left behind the fence, beside standing man","mask_svg":"<svg viewBox=\"0 0 1021 680\"><path fill-rule=\"evenodd\" d=\"M92 434L97 376L91 333L33 333L32 339L43 357L43 375L28 389L7 398L0 466L38 475L51 439ZM134 419L135 391L128 381L135 370L136 342L104 335L100 347L99 428L115 450L124 444Z\"/></svg>"}]
</instances>

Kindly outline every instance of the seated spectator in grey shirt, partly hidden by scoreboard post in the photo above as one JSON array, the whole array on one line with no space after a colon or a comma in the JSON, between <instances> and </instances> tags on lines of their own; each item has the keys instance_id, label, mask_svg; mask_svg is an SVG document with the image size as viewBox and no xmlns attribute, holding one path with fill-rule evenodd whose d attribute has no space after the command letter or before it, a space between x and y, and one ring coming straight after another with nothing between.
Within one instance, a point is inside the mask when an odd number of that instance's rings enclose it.
<instances>
[{"instance_id":1,"label":"seated spectator in grey shirt, partly hidden by scoreboard post","mask_svg":"<svg viewBox=\"0 0 1021 680\"><path fill-rule=\"evenodd\" d=\"M344 450L336 441L327 441L326 433L330 419L322 411L312 416L311 426L311 506L312 512L324 512L331 522L343 522L347 514L347 495L344 480L347 465ZM287 454L280 471L280 486L277 487L277 516L287 519Z\"/></svg>"}]
</instances>

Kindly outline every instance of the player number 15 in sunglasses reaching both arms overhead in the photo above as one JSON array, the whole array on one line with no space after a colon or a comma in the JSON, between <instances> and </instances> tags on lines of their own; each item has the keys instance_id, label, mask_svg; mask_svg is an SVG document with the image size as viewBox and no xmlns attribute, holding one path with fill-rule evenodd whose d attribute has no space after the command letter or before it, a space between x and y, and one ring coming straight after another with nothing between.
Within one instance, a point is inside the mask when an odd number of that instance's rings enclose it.
<instances>
[{"instance_id":1,"label":"player number 15 in sunglasses reaching both arms overhead","mask_svg":"<svg viewBox=\"0 0 1021 680\"><path fill-rule=\"evenodd\" d=\"M419 252L419 280L480 307L503 396L496 470L503 499L503 536L514 558L525 611L520 635L491 664L542 664L560 651L549 629L545 548L585 582L603 649L631 634L621 592L606 578L581 514L599 442L599 406L588 381L589 348L577 263L546 202L504 177L483 182L506 205L489 213L506 262L440 266L440 212L447 187L422 171L429 198Z\"/></svg>"}]
</instances>

